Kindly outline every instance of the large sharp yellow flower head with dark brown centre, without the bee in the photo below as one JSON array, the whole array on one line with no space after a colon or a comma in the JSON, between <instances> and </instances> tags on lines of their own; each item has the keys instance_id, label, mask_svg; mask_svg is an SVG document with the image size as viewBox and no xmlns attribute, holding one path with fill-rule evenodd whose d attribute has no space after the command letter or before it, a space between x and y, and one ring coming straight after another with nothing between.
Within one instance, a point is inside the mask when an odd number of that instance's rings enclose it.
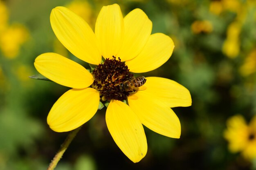
<instances>
[{"instance_id":1,"label":"large sharp yellow flower head with dark brown centre, without the bee","mask_svg":"<svg viewBox=\"0 0 256 170\"><path fill-rule=\"evenodd\" d=\"M83 125L97 112L101 100L110 102L106 110L110 134L133 162L140 161L147 152L142 124L159 134L180 137L180 121L170 107L191 106L190 93L184 86L170 79L146 77L146 87L141 86L141 91L127 88L134 81L131 72L158 68L170 58L174 48L167 35L150 35L152 22L141 9L134 9L123 18L119 5L103 7L95 33L65 7L54 8L50 22L58 40L72 54L96 65L90 73L56 53L36 58L34 65L39 73L72 88L49 112L47 123L52 130L65 132ZM102 56L105 62L101 64ZM142 87L146 90L142 91ZM126 99L128 104L122 102Z\"/></svg>"}]
</instances>

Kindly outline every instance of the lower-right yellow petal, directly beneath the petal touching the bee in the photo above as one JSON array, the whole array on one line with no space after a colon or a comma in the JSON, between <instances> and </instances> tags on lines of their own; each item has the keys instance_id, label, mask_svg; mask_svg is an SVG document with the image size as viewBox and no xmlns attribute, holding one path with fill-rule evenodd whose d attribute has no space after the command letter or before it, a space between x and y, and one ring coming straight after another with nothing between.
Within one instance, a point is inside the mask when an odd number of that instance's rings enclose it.
<instances>
[{"instance_id":1,"label":"lower-right yellow petal, directly beneath the petal touching the bee","mask_svg":"<svg viewBox=\"0 0 256 170\"><path fill-rule=\"evenodd\" d=\"M147 128L167 137L180 138L179 118L161 101L156 101L144 91L138 91L128 97L128 103Z\"/></svg>"}]
</instances>

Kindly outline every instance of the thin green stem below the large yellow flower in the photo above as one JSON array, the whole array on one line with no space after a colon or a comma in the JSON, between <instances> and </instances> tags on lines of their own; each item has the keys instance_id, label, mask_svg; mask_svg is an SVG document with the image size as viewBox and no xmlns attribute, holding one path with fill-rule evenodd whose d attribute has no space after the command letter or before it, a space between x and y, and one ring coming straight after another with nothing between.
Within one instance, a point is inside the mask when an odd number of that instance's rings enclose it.
<instances>
[{"instance_id":1,"label":"thin green stem below the large yellow flower","mask_svg":"<svg viewBox=\"0 0 256 170\"><path fill-rule=\"evenodd\" d=\"M58 152L56 153L56 155L52 159L52 162L50 163L50 165L47 168L47 170L54 170L54 168L56 167L58 161L60 161L62 155L67 150L67 147L70 145L71 141L74 139L74 137L76 136L77 132L79 132L81 127L82 126L80 126L79 128L76 128L75 130L72 130L70 132L70 134L68 134L67 138L65 139L65 141L61 145L61 148L58 150Z\"/></svg>"}]
</instances>

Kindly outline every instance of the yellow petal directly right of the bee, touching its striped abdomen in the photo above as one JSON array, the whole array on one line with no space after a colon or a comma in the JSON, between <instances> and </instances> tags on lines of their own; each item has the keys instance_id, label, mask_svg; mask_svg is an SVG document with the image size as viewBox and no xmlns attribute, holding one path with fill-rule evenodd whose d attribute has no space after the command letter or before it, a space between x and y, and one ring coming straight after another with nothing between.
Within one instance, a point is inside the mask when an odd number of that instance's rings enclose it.
<instances>
[{"instance_id":1,"label":"yellow petal directly right of the bee, touching its striped abdomen","mask_svg":"<svg viewBox=\"0 0 256 170\"><path fill-rule=\"evenodd\" d=\"M155 95L167 106L173 107L187 107L191 106L191 95L184 86L166 78L161 77L146 77L147 89L146 93Z\"/></svg>"}]
</instances>

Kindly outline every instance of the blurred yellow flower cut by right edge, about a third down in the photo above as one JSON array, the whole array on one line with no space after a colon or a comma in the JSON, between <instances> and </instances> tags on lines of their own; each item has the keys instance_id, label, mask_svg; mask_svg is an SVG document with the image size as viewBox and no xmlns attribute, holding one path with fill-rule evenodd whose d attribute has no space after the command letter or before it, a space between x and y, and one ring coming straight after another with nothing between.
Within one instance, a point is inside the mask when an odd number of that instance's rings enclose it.
<instances>
[{"instance_id":1,"label":"blurred yellow flower cut by right edge, about a third down","mask_svg":"<svg viewBox=\"0 0 256 170\"><path fill-rule=\"evenodd\" d=\"M240 67L239 71L243 76L247 76L256 72L256 49L249 53L249 55L245 58L245 61Z\"/></svg>"}]
</instances>

